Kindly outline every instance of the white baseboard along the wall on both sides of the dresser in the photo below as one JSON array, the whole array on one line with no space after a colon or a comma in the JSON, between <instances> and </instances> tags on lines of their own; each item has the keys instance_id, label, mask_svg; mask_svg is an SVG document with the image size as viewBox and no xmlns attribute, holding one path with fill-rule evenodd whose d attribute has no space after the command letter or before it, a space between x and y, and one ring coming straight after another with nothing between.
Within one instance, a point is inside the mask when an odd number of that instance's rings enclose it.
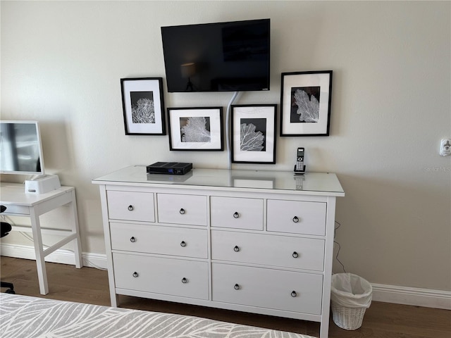
<instances>
[{"instance_id":1,"label":"white baseboard along the wall on both sides of the dresser","mask_svg":"<svg viewBox=\"0 0 451 338\"><path fill-rule=\"evenodd\" d=\"M33 246L0 244L0 253L1 256L35 259L35 249ZM106 269L106 255L83 252L82 258L84 266ZM75 264L73 252L65 249L58 249L52 252L45 260L52 263ZM373 301L451 310L450 291L385 284L371 285L373 287Z\"/></svg>"}]
</instances>

